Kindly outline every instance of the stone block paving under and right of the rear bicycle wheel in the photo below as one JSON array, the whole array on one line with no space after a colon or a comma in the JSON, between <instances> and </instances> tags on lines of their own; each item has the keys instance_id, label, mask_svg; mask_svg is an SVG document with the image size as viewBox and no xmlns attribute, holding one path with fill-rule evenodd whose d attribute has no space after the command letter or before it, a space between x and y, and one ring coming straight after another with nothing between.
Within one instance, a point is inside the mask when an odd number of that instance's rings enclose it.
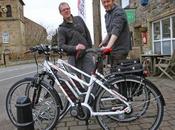
<instances>
[{"instance_id":1,"label":"stone block paving under and right of the rear bicycle wheel","mask_svg":"<svg viewBox=\"0 0 175 130\"><path fill-rule=\"evenodd\" d=\"M175 80L164 78L149 77L161 91L164 96L166 106L164 112L163 122L159 130L175 130ZM129 129L124 127L122 123L116 130L141 130L141 128L134 124ZM95 118L89 120L89 125L86 126L84 121L79 121L69 114L64 117L56 126L54 130L102 130Z\"/></svg>"}]
</instances>

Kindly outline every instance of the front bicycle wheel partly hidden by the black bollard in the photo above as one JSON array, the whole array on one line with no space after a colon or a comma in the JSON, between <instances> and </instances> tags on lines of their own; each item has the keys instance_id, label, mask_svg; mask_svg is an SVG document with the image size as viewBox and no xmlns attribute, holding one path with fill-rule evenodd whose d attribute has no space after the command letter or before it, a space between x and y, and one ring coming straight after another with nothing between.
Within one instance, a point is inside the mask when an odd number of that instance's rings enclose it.
<instances>
[{"instance_id":1,"label":"front bicycle wheel partly hidden by the black bollard","mask_svg":"<svg viewBox=\"0 0 175 130\"><path fill-rule=\"evenodd\" d=\"M14 125L17 125L16 100L19 96L27 96L33 100L34 78L25 78L15 83L9 90L6 97L6 111ZM38 101L33 103L32 114L35 130L52 130L59 119L60 104L56 91L44 81L40 82L41 91Z\"/></svg>"}]
</instances>

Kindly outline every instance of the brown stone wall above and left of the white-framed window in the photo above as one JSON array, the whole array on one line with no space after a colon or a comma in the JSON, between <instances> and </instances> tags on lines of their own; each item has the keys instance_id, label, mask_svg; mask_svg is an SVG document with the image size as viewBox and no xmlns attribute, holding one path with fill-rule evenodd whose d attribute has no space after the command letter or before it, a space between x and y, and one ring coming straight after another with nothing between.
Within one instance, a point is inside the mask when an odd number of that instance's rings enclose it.
<instances>
[{"instance_id":1,"label":"brown stone wall above and left of the white-framed window","mask_svg":"<svg viewBox=\"0 0 175 130\"><path fill-rule=\"evenodd\" d=\"M174 0L149 0L148 5L142 6L140 0L130 0L129 8L136 9L136 21L130 25L134 32L134 42L144 48L152 46L152 22L175 14ZM142 43L141 32L147 32L147 44Z\"/></svg>"}]
</instances>

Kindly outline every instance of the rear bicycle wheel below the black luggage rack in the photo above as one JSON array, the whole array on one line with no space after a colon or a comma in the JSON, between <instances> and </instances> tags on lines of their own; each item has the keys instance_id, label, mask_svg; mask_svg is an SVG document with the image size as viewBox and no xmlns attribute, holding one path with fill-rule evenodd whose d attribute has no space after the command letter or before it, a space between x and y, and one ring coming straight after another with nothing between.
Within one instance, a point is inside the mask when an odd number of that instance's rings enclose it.
<instances>
[{"instance_id":1,"label":"rear bicycle wheel below the black luggage rack","mask_svg":"<svg viewBox=\"0 0 175 130\"><path fill-rule=\"evenodd\" d=\"M130 130L133 129L133 126L137 126L137 129L140 130L156 130L159 127L163 119L164 101L154 84L137 76L114 79L110 84L110 89L117 92L119 87L126 87L125 97L132 111L120 115L97 116L103 129L113 130L122 126ZM114 108L122 109L123 106L122 102L102 90L96 99L95 110L114 111Z\"/></svg>"}]
</instances>

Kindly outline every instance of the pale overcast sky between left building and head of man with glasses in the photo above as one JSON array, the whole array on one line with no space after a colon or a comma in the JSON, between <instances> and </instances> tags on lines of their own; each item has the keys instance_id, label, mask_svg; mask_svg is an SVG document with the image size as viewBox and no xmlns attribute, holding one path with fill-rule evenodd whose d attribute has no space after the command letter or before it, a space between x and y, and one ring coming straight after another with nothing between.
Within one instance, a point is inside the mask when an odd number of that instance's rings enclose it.
<instances>
[{"instance_id":1,"label":"pale overcast sky between left building and head of man with glasses","mask_svg":"<svg viewBox=\"0 0 175 130\"><path fill-rule=\"evenodd\" d=\"M47 29L56 29L61 23L62 18L58 12L60 0L23 0L24 16L43 25ZM65 0L71 7L74 6L72 1ZM77 12L76 6L72 8L72 13Z\"/></svg>"}]
</instances>

